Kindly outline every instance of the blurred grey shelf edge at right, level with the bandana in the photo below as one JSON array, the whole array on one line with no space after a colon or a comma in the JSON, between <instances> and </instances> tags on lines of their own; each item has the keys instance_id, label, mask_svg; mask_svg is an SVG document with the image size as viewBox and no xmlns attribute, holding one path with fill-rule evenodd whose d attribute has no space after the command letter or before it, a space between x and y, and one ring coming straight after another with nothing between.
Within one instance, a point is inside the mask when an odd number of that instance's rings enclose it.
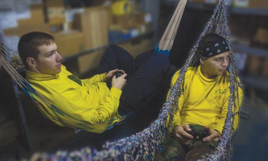
<instances>
[{"instance_id":1,"label":"blurred grey shelf edge at right, level with the bandana","mask_svg":"<svg viewBox=\"0 0 268 161\"><path fill-rule=\"evenodd\" d=\"M248 53L250 55L257 55L261 57L268 57L267 49L250 47L248 45L240 45L240 44L233 44L232 47L234 51L239 51L239 52Z\"/></svg>"}]
</instances>

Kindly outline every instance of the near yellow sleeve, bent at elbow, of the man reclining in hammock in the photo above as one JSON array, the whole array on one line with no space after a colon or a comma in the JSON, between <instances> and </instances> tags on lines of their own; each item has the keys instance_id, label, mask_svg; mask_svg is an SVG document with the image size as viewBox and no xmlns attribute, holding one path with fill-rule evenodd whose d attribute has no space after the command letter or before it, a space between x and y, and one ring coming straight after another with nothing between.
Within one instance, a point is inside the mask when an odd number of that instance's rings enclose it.
<instances>
[{"instance_id":1,"label":"near yellow sleeve, bent at elbow, of the man reclining in hammock","mask_svg":"<svg viewBox=\"0 0 268 161\"><path fill-rule=\"evenodd\" d=\"M76 90L63 92L56 100L56 105L65 112L66 117L72 118L74 124L88 122L91 124L104 123L115 116L122 91L114 87L109 94L98 104L92 107L84 101Z\"/></svg>"}]
</instances>

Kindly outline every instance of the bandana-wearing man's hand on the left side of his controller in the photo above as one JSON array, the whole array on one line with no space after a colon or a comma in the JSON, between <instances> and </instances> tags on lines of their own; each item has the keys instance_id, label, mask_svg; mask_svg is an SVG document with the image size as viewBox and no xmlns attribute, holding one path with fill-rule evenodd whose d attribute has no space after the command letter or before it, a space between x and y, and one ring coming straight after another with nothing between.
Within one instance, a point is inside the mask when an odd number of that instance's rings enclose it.
<instances>
[{"instance_id":1,"label":"bandana-wearing man's hand on the left side of his controller","mask_svg":"<svg viewBox=\"0 0 268 161\"><path fill-rule=\"evenodd\" d=\"M183 143L185 145L191 144L193 136L191 136L186 131L191 131L191 128L189 125L178 125L175 126L172 129L172 136L180 143Z\"/></svg>"}]
</instances>

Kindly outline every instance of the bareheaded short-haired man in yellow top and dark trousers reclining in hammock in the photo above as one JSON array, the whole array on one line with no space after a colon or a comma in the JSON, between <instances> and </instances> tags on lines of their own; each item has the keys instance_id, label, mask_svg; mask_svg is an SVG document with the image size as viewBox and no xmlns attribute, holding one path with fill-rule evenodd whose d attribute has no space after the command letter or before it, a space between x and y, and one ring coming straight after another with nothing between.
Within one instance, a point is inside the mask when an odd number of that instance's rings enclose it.
<instances>
[{"instance_id":1,"label":"bareheaded short-haired man in yellow top and dark trousers reclining in hammock","mask_svg":"<svg viewBox=\"0 0 268 161\"><path fill-rule=\"evenodd\" d=\"M111 45L100 62L100 74L80 80L61 64L57 42L49 34L23 35L18 51L26 80L53 104L36 98L38 110L60 126L94 133L102 133L111 121L139 110L170 67L165 55L144 53L134 60L123 48ZM118 69L123 75L116 78Z\"/></svg>"}]
</instances>

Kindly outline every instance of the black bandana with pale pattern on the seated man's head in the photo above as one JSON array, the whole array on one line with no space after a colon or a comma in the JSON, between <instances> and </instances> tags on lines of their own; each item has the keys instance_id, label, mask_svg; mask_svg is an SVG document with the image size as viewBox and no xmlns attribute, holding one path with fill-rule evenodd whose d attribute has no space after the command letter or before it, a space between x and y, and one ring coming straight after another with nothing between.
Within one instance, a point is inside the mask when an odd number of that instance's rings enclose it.
<instances>
[{"instance_id":1,"label":"black bandana with pale pattern on the seated man's head","mask_svg":"<svg viewBox=\"0 0 268 161\"><path fill-rule=\"evenodd\" d=\"M211 45L200 50L200 55L203 57L212 57L224 52L228 52L229 47L224 38L220 38L211 43Z\"/></svg>"}]
</instances>

